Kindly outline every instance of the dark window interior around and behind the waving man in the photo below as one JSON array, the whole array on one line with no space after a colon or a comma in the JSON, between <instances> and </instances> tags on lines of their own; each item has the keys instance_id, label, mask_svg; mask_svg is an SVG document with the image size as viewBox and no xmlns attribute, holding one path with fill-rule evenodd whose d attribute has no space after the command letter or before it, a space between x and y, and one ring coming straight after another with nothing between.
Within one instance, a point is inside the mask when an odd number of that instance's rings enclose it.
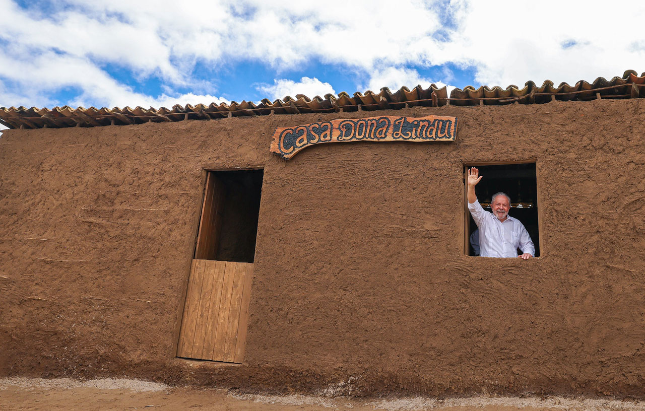
<instances>
[{"instance_id":1,"label":"dark window interior around and behind the waving man","mask_svg":"<svg viewBox=\"0 0 645 411\"><path fill-rule=\"evenodd\" d=\"M539 204L537 204L535 163L497 164L494 166L469 165L468 167L477 167L479 175L483 176L479 184L475 186L475 194L484 210L491 211L490 201L493 194L501 191L509 195L511 197L511 210L508 215L517 218L524 224L535 245L535 256L540 256L540 238L537 225ZM464 166L464 175L468 167ZM466 214L466 240L468 240L470 239L470 234L477 229L477 225L467 209ZM467 241L467 244L468 251L466 253L474 256L475 252L470 245L470 241Z\"/></svg>"}]
</instances>

